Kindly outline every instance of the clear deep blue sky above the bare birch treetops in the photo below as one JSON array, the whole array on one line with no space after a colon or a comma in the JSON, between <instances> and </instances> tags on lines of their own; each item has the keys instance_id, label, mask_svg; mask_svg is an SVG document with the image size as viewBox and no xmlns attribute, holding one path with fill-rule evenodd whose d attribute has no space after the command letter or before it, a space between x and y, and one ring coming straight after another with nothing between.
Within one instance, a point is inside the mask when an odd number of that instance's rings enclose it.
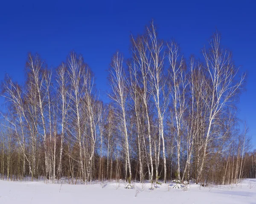
<instances>
[{"instance_id":1,"label":"clear deep blue sky above the bare birch treetops","mask_svg":"<svg viewBox=\"0 0 256 204\"><path fill-rule=\"evenodd\" d=\"M107 69L119 49L129 57L129 36L142 33L151 19L164 40L175 38L185 56L200 56L217 28L236 65L247 72L240 99L256 148L256 1L1 1L0 80L8 73L24 80L28 52L56 67L71 50L81 53L96 76L101 94L108 89ZM102 96L104 98L104 95Z\"/></svg>"}]
</instances>

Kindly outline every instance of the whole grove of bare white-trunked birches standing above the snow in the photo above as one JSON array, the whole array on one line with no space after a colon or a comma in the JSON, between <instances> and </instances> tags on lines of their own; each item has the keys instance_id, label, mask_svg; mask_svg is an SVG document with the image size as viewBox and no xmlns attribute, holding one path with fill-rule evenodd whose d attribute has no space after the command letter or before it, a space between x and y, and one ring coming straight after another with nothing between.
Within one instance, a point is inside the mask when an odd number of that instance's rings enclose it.
<instances>
[{"instance_id":1,"label":"whole grove of bare white-trunked birches standing above the snow","mask_svg":"<svg viewBox=\"0 0 256 204\"><path fill-rule=\"evenodd\" d=\"M255 151L237 117L245 74L217 32L200 56L184 56L152 21L131 34L130 56L116 51L109 60L105 101L82 55L70 52L55 69L28 54L24 83L6 75L1 84L1 179L125 179L127 188L154 188L173 179L256 178Z\"/></svg>"}]
</instances>

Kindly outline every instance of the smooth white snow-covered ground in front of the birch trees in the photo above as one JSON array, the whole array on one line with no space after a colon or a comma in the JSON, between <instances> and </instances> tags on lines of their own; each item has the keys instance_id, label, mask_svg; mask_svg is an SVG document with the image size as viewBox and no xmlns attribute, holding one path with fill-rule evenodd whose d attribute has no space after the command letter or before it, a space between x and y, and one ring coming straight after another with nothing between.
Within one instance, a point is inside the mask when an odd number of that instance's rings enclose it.
<instances>
[{"instance_id":1,"label":"smooth white snow-covered ground in front of the birch trees","mask_svg":"<svg viewBox=\"0 0 256 204\"><path fill-rule=\"evenodd\" d=\"M169 184L148 190L151 184L46 184L45 181L0 181L0 204L256 204L256 179L238 185L202 187L189 184L187 191Z\"/></svg>"}]
</instances>

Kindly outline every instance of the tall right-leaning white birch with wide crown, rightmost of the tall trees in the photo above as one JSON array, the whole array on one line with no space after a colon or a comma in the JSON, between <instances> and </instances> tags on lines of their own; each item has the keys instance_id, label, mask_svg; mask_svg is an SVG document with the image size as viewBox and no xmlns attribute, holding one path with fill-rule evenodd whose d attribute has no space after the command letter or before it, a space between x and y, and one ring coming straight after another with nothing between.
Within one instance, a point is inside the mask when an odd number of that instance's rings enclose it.
<instances>
[{"instance_id":1,"label":"tall right-leaning white birch with wide crown, rightmost of the tall trees","mask_svg":"<svg viewBox=\"0 0 256 204\"><path fill-rule=\"evenodd\" d=\"M231 104L234 97L241 90L245 77L242 75L237 79L239 69L233 65L231 53L220 47L220 40L220 35L215 33L209 42L209 51L206 48L203 50L205 69L209 75L209 80L207 80L209 83L207 84L209 86L207 89L209 93L207 93L207 98L204 98L209 116L206 137L203 144L203 156L199 165L197 180L201 178L207 147L209 141L214 136L212 130L215 123L218 122L224 108Z\"/></svg>"}]
</instances>

